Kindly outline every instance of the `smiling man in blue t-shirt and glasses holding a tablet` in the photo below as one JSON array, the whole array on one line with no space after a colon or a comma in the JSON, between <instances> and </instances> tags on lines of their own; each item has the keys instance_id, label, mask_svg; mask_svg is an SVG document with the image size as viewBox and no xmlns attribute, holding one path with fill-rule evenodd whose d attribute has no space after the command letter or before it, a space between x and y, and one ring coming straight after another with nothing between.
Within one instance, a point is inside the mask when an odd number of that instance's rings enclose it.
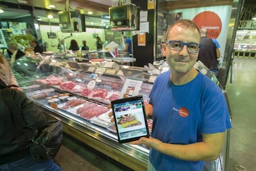
<instances>
[{"instance_id":1,"label":"smiling man in blue t-shirt and glasses holding a tablet","mask_svg":"<svg viewBox=\"0 0 256 171\"><path fill-rule=\"evenodd\" d=\"M148 170L202 170L203 161L219 157L231 128L226 99L218 85L194 69L202 46L192 20L174 22L165 41L170 70L158 75L145 106L153 118L151 137L131 144L150 148Z\"/></svg>"}]
</instances>

